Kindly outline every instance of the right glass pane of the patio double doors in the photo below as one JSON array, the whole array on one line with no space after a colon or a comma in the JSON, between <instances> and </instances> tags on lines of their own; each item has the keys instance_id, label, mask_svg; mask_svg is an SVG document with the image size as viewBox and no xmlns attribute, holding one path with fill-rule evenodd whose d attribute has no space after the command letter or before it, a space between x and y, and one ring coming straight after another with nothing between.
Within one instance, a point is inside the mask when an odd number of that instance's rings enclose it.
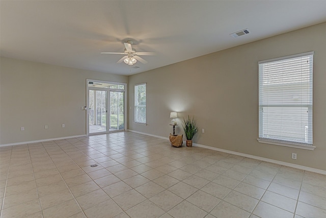
<instances>
[{"instance_id":1,"label":"right glass pane of the patio double doors","mask_svg":"<svg viewBox=\"0 0 326 218\"><path fill-rule=\"evenodd\" d=\"M124 129L124 92L110 91L110 131Z\"/></svg>"}]
</instances>

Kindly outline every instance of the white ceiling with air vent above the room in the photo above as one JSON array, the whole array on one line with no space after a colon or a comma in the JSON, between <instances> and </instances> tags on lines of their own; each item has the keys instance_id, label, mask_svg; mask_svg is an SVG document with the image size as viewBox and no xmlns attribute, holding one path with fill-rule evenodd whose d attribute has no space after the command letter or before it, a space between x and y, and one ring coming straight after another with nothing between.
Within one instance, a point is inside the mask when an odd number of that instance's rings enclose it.
<instances>
[{"instance_id":1,"label":"white ceiling with air vent above the room","mask_svg":"<svg viewBox=\"0 0 326 218\"><path fill-rule=\"evenodd\" d=\"M132 75L326 21L326 1L0 1L1 56ZM250 34L229 34L248 28ZM147 64L116 62L125 42ZM134 68L138 66L139 68Z\"/></svg>"}]
</instances>

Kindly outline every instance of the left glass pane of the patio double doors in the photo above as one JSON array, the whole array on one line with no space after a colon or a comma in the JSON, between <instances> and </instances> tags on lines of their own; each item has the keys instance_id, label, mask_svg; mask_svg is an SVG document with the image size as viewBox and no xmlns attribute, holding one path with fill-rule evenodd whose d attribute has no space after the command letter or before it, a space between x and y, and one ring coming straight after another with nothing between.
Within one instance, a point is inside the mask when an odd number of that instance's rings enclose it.
<instances>
[{"instance_id":1,"label":"left glass pane of the patio double doors","mask_svg":"<svg viewBox=\"0 0 326 218\"><path fill-rule=\"evenodd\" d=\"M89 90L89 133L106 132L107 91Z\"/></svg>"}]
</instances>

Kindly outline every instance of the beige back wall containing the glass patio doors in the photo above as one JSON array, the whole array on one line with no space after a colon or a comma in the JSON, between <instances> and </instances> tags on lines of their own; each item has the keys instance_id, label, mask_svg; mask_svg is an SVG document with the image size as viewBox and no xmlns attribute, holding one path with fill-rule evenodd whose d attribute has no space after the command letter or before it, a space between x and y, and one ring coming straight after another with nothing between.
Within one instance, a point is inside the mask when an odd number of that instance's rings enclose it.
<instances>
[{"instance_id":1,"label":"beige back wall containing the glass patio doors","mask_svg":"<svg viewBox=\"0 0 326 218\"><path fill-rule=\"evenodd\" d=\"M9 58L1 58L0 70L0 144L84 135L86 111L80 107L86 106L86 79L128 81L126 76Z\"/></svg>"}]
</instances>

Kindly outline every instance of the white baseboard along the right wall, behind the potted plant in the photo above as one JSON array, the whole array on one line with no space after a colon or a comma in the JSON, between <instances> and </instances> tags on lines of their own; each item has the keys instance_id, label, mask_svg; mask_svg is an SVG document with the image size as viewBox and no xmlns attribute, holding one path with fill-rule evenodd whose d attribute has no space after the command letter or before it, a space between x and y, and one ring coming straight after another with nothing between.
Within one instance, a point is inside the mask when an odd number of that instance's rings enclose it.
<instances>
[{"instance_id":1,"label":"white baseboard along the right wall, behind the potted plant","mask_svg":"<svg viewBox=\"0 0 326 218\"><path fill-rule=\"evenodd\" d=\"M152 135L152 134L147 134L147 133L133 131L133 130L128 130L128 131L169 140L168 137L162 137L162 136L158 136L158 135ZM185 141L184 141L184 143L185 143ZM269 162L269 163L276 163L276 164L289 166L289 167L293 167L293 168L297 168L297 169L303 169L304 171L309 171L309 172L313 172L313 173L326 175L326 171L323 171L322 169L316 169L316 168L311 168L311 167L308 167L308 166L302 166L302 165L298 165L298 164L287 163L287 162L283 162L283 161L268 159L268 158L254 156L254 155L250 155L250 154L243 154L243 153L239 153L239 152L233 152L233 151L214 148L214 147L210 147L210 146L204 146L203 144L193 143L193 146L197 146L197 147L205 148L205 149L210 149L210 150L214 150L214 151L219 151L219 152L224 152L224 153L227 153L227 154L234 154L234 155L238 155L238 156L242 156L242 157L248 157L248 158L252 158L252 159L256 159L256 160L262 160L262 161L266 161L266 162Z\"/></svg>"}]
</instances>

